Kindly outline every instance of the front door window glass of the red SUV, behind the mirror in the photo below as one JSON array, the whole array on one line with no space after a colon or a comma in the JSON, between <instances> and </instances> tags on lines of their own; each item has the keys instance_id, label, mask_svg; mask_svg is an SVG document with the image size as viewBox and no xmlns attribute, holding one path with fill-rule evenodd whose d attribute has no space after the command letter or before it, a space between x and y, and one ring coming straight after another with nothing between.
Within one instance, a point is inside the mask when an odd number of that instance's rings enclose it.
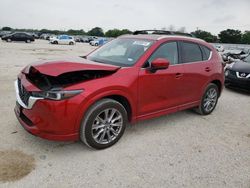
<instances>
[{"instance_id":1,"label":"front door window glass of the red SUV, behind the mirror","mask_svg":"<svg viewBox=\"0 0 250 188\"><path fill-rule=\"evenodd\" d=\"M167 59L170 61L171 65L178 64L177 42L168 42L161 45L149 58L149 65L157 58Z\"/></svg>"}]
</instances>

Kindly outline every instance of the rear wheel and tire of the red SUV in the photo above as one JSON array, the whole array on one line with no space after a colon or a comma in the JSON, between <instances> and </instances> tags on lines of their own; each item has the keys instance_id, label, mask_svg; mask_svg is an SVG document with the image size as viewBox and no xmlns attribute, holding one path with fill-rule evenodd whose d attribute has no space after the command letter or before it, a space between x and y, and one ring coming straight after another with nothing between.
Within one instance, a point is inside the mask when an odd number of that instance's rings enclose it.
<instances>
[{"instance_id":1,"label":"rear wheel and tire of the red SUV","mask_svg":"<svg viewBox=\"0 0 250 188\"><path fill-rule=\"evenodd\" d=\"M216 84L208 84L199 107L195 108L195 111L201 115L208 115L215 109L219 98L219 89Z\"/></svg>"}]
</instances>

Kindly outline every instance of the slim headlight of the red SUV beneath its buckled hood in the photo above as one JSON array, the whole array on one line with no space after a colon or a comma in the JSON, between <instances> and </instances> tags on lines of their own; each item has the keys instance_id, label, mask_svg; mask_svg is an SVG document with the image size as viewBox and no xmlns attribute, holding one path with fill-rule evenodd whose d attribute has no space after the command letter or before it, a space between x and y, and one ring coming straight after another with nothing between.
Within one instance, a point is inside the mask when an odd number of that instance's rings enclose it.
<instances>
[{"instance_id":1,"label":"slim headlight of the red SUV beneath its buckled hood","mask_svg":"<svg viewBox=\"0 0 250 188\"><path fill-rule=\"evenodd\" d=\"M40 97L51 100L63 100L74 97L80 94L83 90L70 90L70 91L41 91L32 92L33 97Z\"/></svg>"}]
</instances>

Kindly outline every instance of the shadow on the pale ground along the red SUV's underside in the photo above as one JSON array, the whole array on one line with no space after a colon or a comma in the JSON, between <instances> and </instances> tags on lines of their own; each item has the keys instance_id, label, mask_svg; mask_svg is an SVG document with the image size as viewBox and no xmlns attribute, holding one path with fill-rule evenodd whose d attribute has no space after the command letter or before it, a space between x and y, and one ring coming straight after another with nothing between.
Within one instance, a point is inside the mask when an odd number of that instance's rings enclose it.
<instances>
[{"instance_id":1,"label":"shadow on the pale ground along the red SUV's underside","mask_svg":"<svg viewBox=\"0 0 250 188\"><path fill-rule=\"evenodd\" d=\"M190 116L197 116L195 112L192 110L185 110L181 112L176 112L173 114L168 114L165 116L160 116L157 118L143 120L138 123L128 124L126 127L126 131L122 137L122 139L115 144L114 146L119 145L123 140L131 140L136 139L137 135L147 134L147 132L151 132L159 129L167 129L168 127L172 127L178 124L181 124L185 119ZM198 115L199 116L199 115ZM16 125L20 126L20 125ZM20 130L21 129L21 130ZM84 151L101 151L95 150L87 147L80 140L79 141L50 141L46 139L39 138L34 136L27 131L25 131L22 127L18 130L18 138L16 139L24 139L25 147L33 148L35 145L34 152L41 151L44 153L67 153L67 152L84 152ZM120 143L122 144L122 143ZM111 148L117 149L117 147L112 146ZM119 147L119 146L118 146Z\"/></svg>"}]
</instances>

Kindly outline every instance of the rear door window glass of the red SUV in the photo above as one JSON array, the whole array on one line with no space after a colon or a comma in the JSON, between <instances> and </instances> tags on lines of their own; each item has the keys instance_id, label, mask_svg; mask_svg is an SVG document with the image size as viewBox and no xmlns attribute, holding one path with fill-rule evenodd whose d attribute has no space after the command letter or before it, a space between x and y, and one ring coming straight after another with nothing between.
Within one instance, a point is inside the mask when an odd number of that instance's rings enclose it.
<instances>
[{"instance_id":1,"label":"rear door window glass of the red SUV","mask_svg":"<svg viewBox=\"0 0 250 188\"><path fill-rule=\"evenodd\" d=\"M202 61L202 52L198 44L181 42L182 63Z\"/></svg>"}]
</instances>

